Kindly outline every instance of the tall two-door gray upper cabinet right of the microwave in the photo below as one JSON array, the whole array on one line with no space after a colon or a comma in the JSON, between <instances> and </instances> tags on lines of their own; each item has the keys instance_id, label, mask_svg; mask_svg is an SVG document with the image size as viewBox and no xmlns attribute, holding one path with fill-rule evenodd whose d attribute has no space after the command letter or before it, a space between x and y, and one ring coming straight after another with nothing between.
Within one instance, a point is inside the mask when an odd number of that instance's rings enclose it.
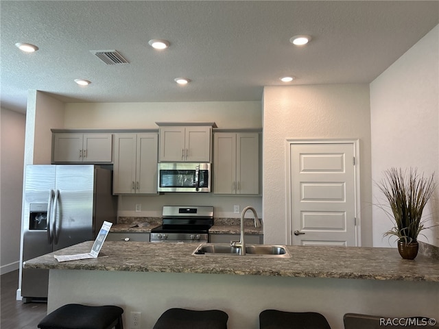
<instances>
[{"instance_id":1,"label":"tall two-door gray upper cabinet right of the microwave","mask_svg":"<svg viewBox=\"0 0 439 329\"><path fill-rule=\"evenodd\" d=\"M213 138L213 193L259 195L259 134L217 132Z\"/></svg>"}]
</instances>

